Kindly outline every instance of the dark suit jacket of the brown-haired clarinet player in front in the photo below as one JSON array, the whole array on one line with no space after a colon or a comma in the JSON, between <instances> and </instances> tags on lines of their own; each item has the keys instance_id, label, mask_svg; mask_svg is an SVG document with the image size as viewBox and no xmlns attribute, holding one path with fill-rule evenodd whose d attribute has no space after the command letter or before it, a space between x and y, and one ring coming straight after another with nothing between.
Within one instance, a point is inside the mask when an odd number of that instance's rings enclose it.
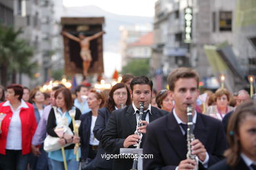
<instances>
[{"instance_id":1,"label":"dark suit jacket of the brown-haired clarinet player in front","mask_svg":"<svg viewBox=\"0 0 256 170\"><path fill-rule=\"evenodd\" d=\"M198 113L194 135L203 143L209 154L208 166L223 158L227 146L219 120ZM173 112L147 126L143 153L154 156L154 159L143 160L143 169L175 169L180 161L186 160L186 137L182 134ZM199 169L204 169L201 163Z\"/></svg>"}]
</instances>

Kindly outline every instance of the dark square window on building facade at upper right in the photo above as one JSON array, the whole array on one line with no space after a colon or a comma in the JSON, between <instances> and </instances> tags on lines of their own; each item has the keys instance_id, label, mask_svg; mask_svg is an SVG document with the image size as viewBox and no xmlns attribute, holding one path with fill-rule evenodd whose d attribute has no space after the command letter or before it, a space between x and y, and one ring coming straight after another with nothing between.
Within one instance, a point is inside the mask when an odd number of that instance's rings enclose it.
<instances>
[{"instance_id":1,"label":"dark square window on building facade at upper right","mask_svg":"<svg viewBox=\"0 0 256 170\"><path fill-rule=\"evenodd\" d=\"M232 12L220 12L219 31L232 31Z\"/></svg>"}]
</instances>

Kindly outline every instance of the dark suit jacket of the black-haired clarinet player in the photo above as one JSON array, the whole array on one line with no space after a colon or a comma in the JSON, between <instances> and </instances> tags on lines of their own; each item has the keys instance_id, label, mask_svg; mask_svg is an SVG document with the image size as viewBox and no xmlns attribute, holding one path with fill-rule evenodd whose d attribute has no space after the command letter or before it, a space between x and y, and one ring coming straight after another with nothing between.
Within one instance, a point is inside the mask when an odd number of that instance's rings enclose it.
<instances>
[{"instance_id":1,"label":"dark suit jacket of the black-haired clarinet player","mask_svg":"<svg viewBox=\"0 0 256 170\"><path fill-rule=\"evenodd\" d=\"M124 109L114 110L108 120L106 126L106 131L102 136L102 146L103 148L112 154L119 154L120 148L123 148L123 142L129 135L135 133L137 127L136 115L133 114L135 110L132 105L125 107ZM165 110L157 109L156 107L151 107L151 113L149 114L149 120L152 122L161 116L168 114ZM142 144L144 139L144 134L142 137ZM140 146L142 146L142 144ZM134 146L129 146L129 148L134 148ZM131 169L133 165L132 159L114 159L113 169Z\"/></svg>"}]
</instances>

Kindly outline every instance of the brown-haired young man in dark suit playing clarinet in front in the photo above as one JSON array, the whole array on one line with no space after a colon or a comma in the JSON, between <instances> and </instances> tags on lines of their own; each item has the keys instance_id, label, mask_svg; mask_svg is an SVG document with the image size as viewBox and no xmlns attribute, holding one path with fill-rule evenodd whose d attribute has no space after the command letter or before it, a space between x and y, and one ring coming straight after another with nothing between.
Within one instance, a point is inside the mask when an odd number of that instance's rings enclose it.
<instances>
[{"instance_id":1,"label":"brown-haired young man in dark suit playing clarinet in front","mask_svg":"<svg viewBox=\"0 0 256 170\"><path fill-rule=\"evenodd\" d=\"M226 137L219 120L196 112L199 95L198 73L190 68L175 69L167 78L171 97L175 101L173 112L147 126L143 153L154 159L144 159L143 169L207 169L223 158ZM195 140L187 145L187 107L192 107L193 135ZM189 146L189 147L188 147ZM188 159L196 155L196 161Z\"/></svg>"}]
</instances>

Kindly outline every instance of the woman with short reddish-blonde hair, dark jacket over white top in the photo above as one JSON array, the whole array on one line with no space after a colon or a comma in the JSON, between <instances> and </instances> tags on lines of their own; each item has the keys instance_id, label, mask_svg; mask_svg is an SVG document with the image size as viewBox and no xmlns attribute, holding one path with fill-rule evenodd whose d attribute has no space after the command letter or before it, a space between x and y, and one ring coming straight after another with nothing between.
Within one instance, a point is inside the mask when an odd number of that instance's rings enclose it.
<instances>
[{"instance_id":1,"label":"woman with short reddish-blonde hair, dark jacket over white top","mask_svg":"<svg viewBox=\"0 0 256 170\"><path fill-rule=\"evenodd\" d=\"M93 134L98 109L105 102L104 93L100 90L90 90L87 98L87 103L90 112L81 116L81 126L79 127L79 136L81 137L81 161L82 169L95 169L95 156L98 150L99 141Z\"/></svg>"}]
</instances>

